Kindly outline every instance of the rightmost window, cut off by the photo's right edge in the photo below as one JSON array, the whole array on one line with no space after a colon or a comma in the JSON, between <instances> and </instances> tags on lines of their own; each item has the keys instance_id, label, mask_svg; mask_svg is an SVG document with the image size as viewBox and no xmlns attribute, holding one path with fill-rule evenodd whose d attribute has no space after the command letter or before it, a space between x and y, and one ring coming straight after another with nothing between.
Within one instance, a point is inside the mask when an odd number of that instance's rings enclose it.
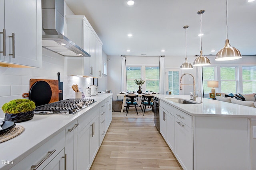
<instances>
[{"instance_id":1,"label":"rightmost window, cut off by the photo's right edge","mask_svg":"<svg viewBox=\"0 0 256 170\"><path fill-rule=\"evenodd\" d=\"M243 66L243 93L256 92L256 66Z\"/></svg>"}]
</instances>

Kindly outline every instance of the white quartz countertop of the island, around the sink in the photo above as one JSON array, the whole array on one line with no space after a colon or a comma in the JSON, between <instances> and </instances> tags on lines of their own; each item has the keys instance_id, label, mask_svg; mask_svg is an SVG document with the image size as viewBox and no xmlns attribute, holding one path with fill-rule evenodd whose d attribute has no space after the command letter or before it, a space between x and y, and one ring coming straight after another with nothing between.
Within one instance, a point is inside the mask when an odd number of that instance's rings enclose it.
<instances>
[{"instance_id":1,"label":"white quartz countertop of the island, around the sink","mask_svg":"<svg viewBox=\"0 0 256 170\"><path fill-rule=\"evenodd\" d=\"M184 111L191 116L226 116L226 117L248 117L256 118L256 108L249 106L242 106L238 104L232 104L228 102L221 102L218 100L212 100L208 98L202 98L200 103L200 97L196 98L199 104L178 104L168 100L170 98L186 99L190 100L189 95L164 95L154 94L156 98L170 104L171 106Z\"/></svg>"}]
</instances>

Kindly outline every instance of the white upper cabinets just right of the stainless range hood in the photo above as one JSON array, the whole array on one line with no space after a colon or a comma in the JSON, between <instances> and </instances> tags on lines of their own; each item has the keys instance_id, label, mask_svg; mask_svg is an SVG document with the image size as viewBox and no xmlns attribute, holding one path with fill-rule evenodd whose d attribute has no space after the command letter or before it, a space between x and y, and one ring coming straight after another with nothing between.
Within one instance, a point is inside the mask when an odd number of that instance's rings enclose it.
<instances>
[{"instance_id":1,"label":"white upper cabinets just right of the stainless range hood","mask_svg":"<svg viewBox=\"0 0 256 170\"><path fill-rule=\"evenodd\" d=\"M85 16L66 16L67 37L91 57L68 57L67 74L95 78L102 76L102 42ZM75 70L74 70L74 67Z\"/></svg>"}]
</instances>

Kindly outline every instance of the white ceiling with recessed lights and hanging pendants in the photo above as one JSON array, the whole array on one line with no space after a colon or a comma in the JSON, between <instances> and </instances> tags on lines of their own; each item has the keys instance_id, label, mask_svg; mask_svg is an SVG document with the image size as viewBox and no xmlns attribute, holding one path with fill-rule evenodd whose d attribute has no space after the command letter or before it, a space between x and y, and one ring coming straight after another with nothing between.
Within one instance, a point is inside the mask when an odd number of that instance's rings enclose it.
<instances>
[{"instance_id":1,"label":"white ceiling with recessed lights and hanging pendants","mask_svg":"<svg viewBox=\"0 0 256 170\"><path fill-rule=\"evenodd\" d=\"M134 6L127 1L65 0L75 15L86 16L107 55L185 56L184 25L189 26L187 55L199 55L199 10L205 10L203 55L216 55L224 47L226 0L134 0ZM256 55L256 1L228 1L228 39L242 55Z\"/></svg>"}]
</instances>

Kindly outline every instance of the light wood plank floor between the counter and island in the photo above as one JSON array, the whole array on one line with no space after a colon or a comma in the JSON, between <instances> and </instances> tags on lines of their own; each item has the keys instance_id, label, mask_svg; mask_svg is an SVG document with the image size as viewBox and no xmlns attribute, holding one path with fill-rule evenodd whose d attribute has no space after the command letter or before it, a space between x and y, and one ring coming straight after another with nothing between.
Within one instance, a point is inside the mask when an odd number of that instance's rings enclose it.
<instances>
[{"instance_id":1,"label":"light wood plank floor between the counter and island","mask_svg":"<svg viewBox=\"0 0 256 170\"><path fill-rule=\"evenodd\" d=\"M154 127L154 114L135 109L113 112L113 119L91 170L182 170Z\"/></svg>"}]
</instances>

